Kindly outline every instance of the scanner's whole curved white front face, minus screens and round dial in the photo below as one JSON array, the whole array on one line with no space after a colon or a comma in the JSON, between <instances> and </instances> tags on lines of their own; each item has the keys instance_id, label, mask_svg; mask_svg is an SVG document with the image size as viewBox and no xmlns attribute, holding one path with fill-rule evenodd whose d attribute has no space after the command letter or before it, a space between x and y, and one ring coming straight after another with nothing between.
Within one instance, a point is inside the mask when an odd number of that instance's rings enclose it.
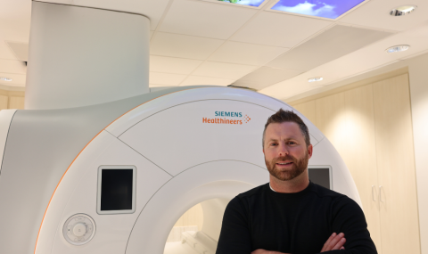
<instances>
[{"instance_id":1,"label":"scanner's whole curved white front face, minus screens and round dial","mask_svg":"<svg viewBox=\"0 0 428 254\"><path fill-rule=\"evenodd\" d=\"M162 253L185 210L268 183L262 133L280 108L292 110L268 96L226 87L189 89L142 102L95 136L71 163L46 211L36 254ZM309 165L331 167L333 190L360 204L339 153L300 117L314 145ZM98 168L109 165L136 167L136 212L96 212ZM81 246L62 235L62 226L76 214L92 217L96 228L94 238ZM212 219L202 231L216 240L219 224L219 217Z\"/></svg>"}]
</instances>

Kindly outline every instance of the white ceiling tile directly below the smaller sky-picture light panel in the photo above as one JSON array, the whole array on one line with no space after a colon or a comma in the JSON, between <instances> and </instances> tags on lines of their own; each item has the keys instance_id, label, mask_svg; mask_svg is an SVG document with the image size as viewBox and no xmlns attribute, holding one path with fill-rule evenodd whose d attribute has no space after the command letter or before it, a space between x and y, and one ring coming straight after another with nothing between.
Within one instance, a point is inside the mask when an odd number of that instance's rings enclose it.
<instances>
[{"instance_id":1,"label":"white ceiling tile directly below the smaller sky-picture light panel","mask_svg":"<svg viewBox=\"0 0 428 254\"><path fill-rule=\"evenodd\" d=\"M159 31L227 39L257 12L235 4L176 0Z\"/></svg>"}]
</instances>

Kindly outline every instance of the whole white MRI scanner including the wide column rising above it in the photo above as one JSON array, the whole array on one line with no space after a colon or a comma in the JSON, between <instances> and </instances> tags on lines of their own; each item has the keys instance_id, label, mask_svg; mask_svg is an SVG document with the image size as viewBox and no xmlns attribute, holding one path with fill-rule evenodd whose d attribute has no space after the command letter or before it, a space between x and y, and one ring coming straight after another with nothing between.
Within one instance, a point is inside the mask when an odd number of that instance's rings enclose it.
<instances>
[{"instance_id":1,"label":"whole white MRI scanner including the wide column rising above it","mask_svg":"<svg viewBox=\"0 0 428 254\"><path fill-rule=\"evenodd\" d=\"M149 91L149 31L141 14L33 2L26 110L0 111L0 253L213 254L228 201L268 183L263 128L292 108L226 86ZM310 180L361 204L298 114ZM167 243L196 204L202 228Z\"/></svg>"}]
</instances>

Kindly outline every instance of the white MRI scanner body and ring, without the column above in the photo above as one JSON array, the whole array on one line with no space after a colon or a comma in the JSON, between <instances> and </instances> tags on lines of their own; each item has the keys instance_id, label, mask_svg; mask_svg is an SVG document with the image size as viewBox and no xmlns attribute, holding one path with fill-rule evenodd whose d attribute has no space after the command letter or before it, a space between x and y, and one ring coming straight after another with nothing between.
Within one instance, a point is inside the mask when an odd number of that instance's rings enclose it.
<instances>
[{"instance_id":1,"label":"white MRI scanner body and ring, without the column above","mask_svg":"<svg viewBox=\"0 0 428 254\"><path fill-rule=\"evenodd\" d=\"M215 253L227 202L268 182L261 137L280 108L292 110L249 90L190 86L66 110L0 111L0 252ZM300 117L314 145L309 178L360 204L341 156ZM165 248L198 203L202 230Z\"/></svg>"}]
</instances>

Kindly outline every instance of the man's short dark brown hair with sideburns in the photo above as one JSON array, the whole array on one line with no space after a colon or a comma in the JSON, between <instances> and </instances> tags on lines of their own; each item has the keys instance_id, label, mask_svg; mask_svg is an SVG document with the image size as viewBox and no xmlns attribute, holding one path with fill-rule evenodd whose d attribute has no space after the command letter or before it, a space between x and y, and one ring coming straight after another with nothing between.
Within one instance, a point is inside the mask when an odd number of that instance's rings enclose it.
<instances>
[{"instance_id":1,"label":"man's short dark brown hair with sideburns","mask_svg":"<svg viewBox=\"0 0 428 254\"><path fill-rule=\"evenodd\" d=\"M303 120L300 119L300 117L293 111L284 111L283 109L279 109L279 111L276 111L275 114L273 114L268 118L268 122L265 125L265 129L263 130L263 140L262 140L263 147L265 147L265 133L268 125L272 123L280 124L284 122L296 123L300 127L301 134L305 137L306 146L309 146L310 144L309 129L306 126L306 124L303 122Z\"/></svg>"}]
</instances>

